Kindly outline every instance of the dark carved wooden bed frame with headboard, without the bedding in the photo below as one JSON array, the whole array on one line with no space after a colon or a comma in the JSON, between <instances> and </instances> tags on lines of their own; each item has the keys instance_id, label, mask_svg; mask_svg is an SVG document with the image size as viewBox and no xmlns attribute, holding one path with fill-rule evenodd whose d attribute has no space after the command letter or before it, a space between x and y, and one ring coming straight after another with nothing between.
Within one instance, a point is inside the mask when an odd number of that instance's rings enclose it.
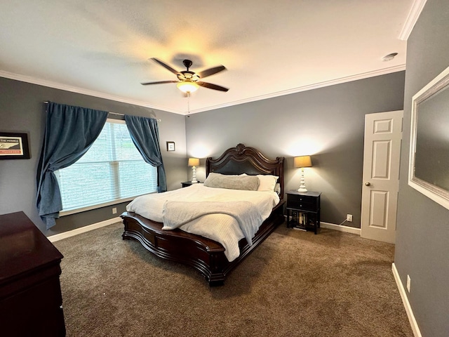
<instances>
[{"instance_id":1,"label":"dark carved wooden bed frame with headboard, without the bedding","mask_svg":"<svg viewBox=\"0 0 449 337\"><path fill-rule=\"evenodd\" d=\"M269 212L269 216L263 221L262 225L258 227L253 239L249 240L250 242L245 237L239 240L239 255L232 261L229 261L225 254L225 247L219 242L198 234L185 232L179 228L163 230L164 223L149 220L133 211L126 211L121 214L124 225L122 237L123 239L138 240L145 249L160 258L194 267L206 278L210 286L219 286L224 284L225 277L229 272L239 265L251 251L256 249L277 225L283 223L283 205L285 204L283 200L283 157L268 159L254 147L239 144L226 150L217 159L211 157L206 159L206 176L209 177L210 173L219 173L226 176L246 173L248 176L268 175L279 177L277 180L279 202ZM191 187L195 188L196 186L192 185ZM185 187L182 190L191 187Z\"/></svg>"}]
</instances>

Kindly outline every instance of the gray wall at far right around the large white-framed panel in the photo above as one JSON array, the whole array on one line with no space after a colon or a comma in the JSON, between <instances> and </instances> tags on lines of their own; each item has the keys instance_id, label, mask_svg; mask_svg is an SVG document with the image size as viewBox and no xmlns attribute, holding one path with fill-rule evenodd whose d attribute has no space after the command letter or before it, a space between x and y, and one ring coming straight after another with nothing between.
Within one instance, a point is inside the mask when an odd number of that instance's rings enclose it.
<instances>
[{"instance_id":1,"label":"gray wall at far right around the large white-framed panel","mask_svg":"<svg viewBox=\"0 0 449 337\"><path fill-rule=\"evenodd\" d=\"M449 211L408 186L408 151L412 97L449 66L448 32L448 1L428 0L407 46L394 259L404 287L410 275L407 296L422 336L432 337L449 334Z\"/></svg>"}]
</instances>

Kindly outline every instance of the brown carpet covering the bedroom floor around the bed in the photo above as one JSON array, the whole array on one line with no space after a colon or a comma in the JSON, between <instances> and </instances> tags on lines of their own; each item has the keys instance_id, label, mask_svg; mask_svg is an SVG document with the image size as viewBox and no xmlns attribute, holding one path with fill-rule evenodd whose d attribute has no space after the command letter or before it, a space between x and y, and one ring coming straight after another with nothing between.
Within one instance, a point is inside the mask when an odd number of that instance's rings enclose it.
<instances>
[{"instance_id":1,"label":"brown carpet covering the bedroom floor around the bed","mask_svg":"<svg viewBox=\"0 0 449 337\"><path fill-rule=\"evenodd\" d=\"M210 288L122 226L55 242L67 336L413 336L391 244L281 225Z\"/></svg>"}]
</instances>

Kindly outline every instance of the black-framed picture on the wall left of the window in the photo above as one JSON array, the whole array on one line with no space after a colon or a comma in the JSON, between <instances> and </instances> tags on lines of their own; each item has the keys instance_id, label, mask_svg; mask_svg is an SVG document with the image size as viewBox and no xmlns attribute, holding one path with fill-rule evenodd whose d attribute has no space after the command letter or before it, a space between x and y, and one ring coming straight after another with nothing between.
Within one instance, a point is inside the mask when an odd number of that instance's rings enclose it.
<instances>
[{"instance_id":1,"label":"black-framed picture on the wall left of the window","mask_svg":"<svg viewBox=\"0 0 449 337\"><path fill-rule=\"evenodd\" d=\"M29 159L27 133L0 132L0 159Z\"/></svg>"}]
</instances>

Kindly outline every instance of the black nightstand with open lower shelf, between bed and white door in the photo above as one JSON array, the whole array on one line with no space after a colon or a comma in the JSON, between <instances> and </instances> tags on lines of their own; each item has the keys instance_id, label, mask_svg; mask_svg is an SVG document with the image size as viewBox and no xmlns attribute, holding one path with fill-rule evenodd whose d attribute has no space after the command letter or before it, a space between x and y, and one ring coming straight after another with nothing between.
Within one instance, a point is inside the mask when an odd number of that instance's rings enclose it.
<instances>
[{"instance_id":1,"label":"black nightstand with open lower shelf, between bed and white door","mask_svg":"<svg viewBox=\"0 0 449 337\"><path fill-rule=\"evenodd\" d=\"M316 234L320 227L320 196L321 192L288 191L287 227L313 228Z\"/></svg>"}]
</instances>

